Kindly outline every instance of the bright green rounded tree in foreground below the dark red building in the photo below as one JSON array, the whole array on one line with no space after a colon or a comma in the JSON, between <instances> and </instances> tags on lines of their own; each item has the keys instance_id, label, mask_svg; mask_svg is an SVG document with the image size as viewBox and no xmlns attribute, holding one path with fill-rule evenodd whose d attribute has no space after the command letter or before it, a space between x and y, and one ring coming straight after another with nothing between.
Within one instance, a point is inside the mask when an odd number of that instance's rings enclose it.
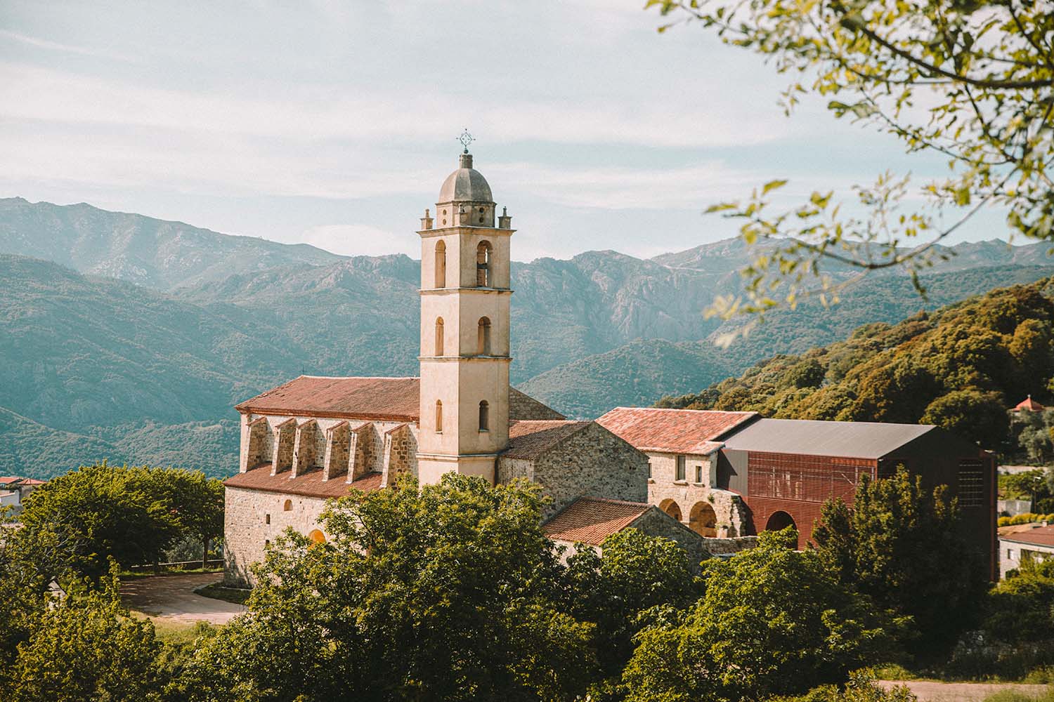
<instances>
[{"instance_id":1,"label":"bright green rounded tree in foreground below the dark red building","mask_svg":"<svg viewBox=\"0 0 1054 702\"><path fill-rule=\"evenodd\" d=\"M905 625L840 585L793 528L706 561L706 594L638 635L630 702L733 702L801 694L891 655Z\"/></svg>"}]
</instances>

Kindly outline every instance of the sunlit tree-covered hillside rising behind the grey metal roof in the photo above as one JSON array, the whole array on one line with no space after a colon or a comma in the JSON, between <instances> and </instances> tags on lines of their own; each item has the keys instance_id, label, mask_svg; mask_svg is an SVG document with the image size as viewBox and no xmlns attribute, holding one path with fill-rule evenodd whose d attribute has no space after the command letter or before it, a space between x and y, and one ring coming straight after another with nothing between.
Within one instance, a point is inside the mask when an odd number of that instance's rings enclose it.
<instances>
[{"instance_id":1,"label":"sunlit tree-covered hillside rising behind the grey metal roof","mask_svg":"<svg viewBox=\"0 0 1054 702\"><path fill-rule=\"evenodd\" d=\"M662 406L937 424L1006 448L1007 408L1054 394L1054 278L992 290L848 339L775 356Z\"/></svg>"}]
</instances>

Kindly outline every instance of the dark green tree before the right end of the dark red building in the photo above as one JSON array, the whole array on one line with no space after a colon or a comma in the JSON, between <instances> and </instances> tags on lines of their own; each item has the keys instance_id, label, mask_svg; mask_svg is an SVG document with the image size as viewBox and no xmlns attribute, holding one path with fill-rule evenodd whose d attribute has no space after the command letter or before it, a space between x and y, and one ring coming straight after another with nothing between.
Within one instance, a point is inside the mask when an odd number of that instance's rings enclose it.
<instances>
[{"instance_id":1,"label":"dark green tree before the right end of the dark red building","mask_svg":"<svg viewBox=\"0 0 1054 702\"><path fill-rule=\"evenodd\" d=\"M843 585L915 619L916 650L949 644L975 622L988 585L945 489L928 490L899 466L889 478L862 479L852 508L828 500L813 530L818 558Z\"/></svg>"}]
</instances>

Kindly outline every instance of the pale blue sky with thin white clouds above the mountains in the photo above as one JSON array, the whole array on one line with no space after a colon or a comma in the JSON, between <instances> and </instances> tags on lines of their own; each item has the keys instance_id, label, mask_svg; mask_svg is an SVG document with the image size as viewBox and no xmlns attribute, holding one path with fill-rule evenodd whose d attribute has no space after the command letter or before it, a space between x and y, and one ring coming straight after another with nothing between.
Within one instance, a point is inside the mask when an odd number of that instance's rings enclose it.
<instances>
[{"instance_id":1,"label":"pale blue sky with thin white clouds above the mountains","mask_svg":"<svg viewBox=\"0 0 1054 702\"><path fill-rule=\"evenodd\" d=\"M941 175L819 99L786 117L788 77L643 4L3 0L0 197L419 258L467 127L526 261L736 236L703 209L777 178L789 207ZM1006 237L987 212L953 241Z\"/></svg>"}]
</instances>

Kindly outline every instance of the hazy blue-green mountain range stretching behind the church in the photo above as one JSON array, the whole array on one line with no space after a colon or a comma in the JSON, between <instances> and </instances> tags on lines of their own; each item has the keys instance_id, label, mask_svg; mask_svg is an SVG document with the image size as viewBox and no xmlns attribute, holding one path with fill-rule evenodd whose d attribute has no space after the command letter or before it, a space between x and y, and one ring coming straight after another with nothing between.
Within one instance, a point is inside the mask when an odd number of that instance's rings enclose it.
<instances>
[{"instance_id":1,"label":"hazy blue-green mountain range stretching behind the church","mask_svg":"<svg viewBox=\"0 0 1054 702\"><path fill-rule=\"evenodd\" d=\"M569 416L594 417L1054 269L1046 244L945 253L924 277L925 300L906 276L874 276L837 306L774 313L724 349L714 339L741 322L703 313L739 289L739 240L653 259L516 262L511 377ZM0 448L12 470L34 476L103 457L226 475L238 440L231 407L246 397L300 374L415 375L418 284L419 262L402 255L341 257L0 199Z\"/></svg>"}]
</instances>

